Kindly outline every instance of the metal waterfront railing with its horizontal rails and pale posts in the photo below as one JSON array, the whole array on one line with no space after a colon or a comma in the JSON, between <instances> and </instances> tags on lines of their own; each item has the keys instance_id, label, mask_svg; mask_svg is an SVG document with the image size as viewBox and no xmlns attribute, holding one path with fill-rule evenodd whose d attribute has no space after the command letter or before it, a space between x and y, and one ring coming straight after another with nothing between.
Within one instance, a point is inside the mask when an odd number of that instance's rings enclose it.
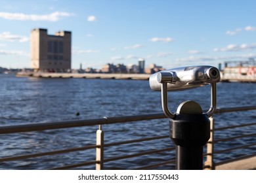
<instances>
[{"instance_id":1,"label":"metal waterfront railing with its horizontal rails and pale posts","mask_svg":"<svg viewBox=\"0 0 256 183\"><path fill-rule=\"evenodd\" d=\"M244 111L244 110L256 110L256 106L249 106L249 107L234 107L234 108L217 108L216 112L217 114L224 113L224 112L236 112L236 111ZM127 158L134 158L144 155L150 155L150 154L156 154L160 152L170 152L172 150L175 150L175 146L163 148L159 150L150 150L150 151L143 151L143 152L137 152L135 154L129 154L129 155L123 155L123 156L115 156L112 158L104 158L104 148L110 147L110 146L118 146L121 144L131 144L135 142L146 142L146 141L154 141L159 139L166 139L169 138L168 135L163 136L157 136L157 137L148 137L148 138L142 138L142 139L135 139L131 141L120 141L120 142L112 142L108 144L104 144L104 131L102 130L102 125L109 125L109 124L117 124L117 123L127 123L127 122L139 122L144 120L156 120L156 119L162 119L166 118L164 114L146 114L146 115L137 115L137 116L123 116L123 117L112 117L112 118L99 118L99 119L92 119L92 120L73 120L73 121L65 121L65 122L48 122L48 123L40 123L40 124L24 124L24 125L8 125L8 126L2 126L0 127L0 135L2 134L11 134L11 133L21 133L21 132L29 132L29 131L43 131L43 130L49 130L49 129L63 129L63 128L71 128L71 127L82 127L82 126L91 126L91 125L98 125L98 130L96 131L96 144L91 144L88 146L81 146L77 148L68 148L63 150L54 150L51 152L41 152L41 153L35 153L35 154L24 154L21 156L12 156L12 157L5 157L0 158L0 163L5 161L16 161L20 159L27 159L27 158L37 158L42 156L52 156L55 154L64 154L64 153L70 153L70 152L77 152L82 150L90 150L90 149L96 149L96 159L92 161L86 161L81 163L75 163L72 165L66 165L62 167L53 167L51 169L74 169L76 167L84 167L87 165L94 165L96 169L104 169L104 163L116 161L119 159L127 159ZM237 127L245 127L245 126L252 126L256 125L255 122L249 123L249 124L243 124L243 125L234 125L234 126L228 126L228 127L220 127L220 128L214 128L214 120L211 117L211 138L209 139L209 142L207 142L207 153L205 156L207 156L207 160L205 161L205 169L215 169L215 163L214 163L214 155L223 153L223 152L230 152L231 150L236 150L239 148L245 148L245 147L251 147L255 146L256 143L253 144L247 144L246 146L239 146L235 148L228 148L226 150L219 150L214 151L214 145L221 141L231 141L233 139L238 138L244 138L244 137L254 137L256 136L256 133L246 134L246 135L239 135L237 137L230 137L227 139L214 139L214 132L220 131L224 129L230 129L230 128L237 128ZM171 143L171 142L170 142ZM255 156L255 154L250 154L248 156ZM233 159L236 160L236 159ZM228 161L232 161L232 159L229 159ZM155 167L160 167L162 165L167 164L174 164L175 163L175 157L169 159L169 161L164 161L160 163L156 163L153 165L146 165L144 167L139 167L137 169L152 169ZM225 163L220 162L218 164Z\"/></svg>"}]
</instances>

